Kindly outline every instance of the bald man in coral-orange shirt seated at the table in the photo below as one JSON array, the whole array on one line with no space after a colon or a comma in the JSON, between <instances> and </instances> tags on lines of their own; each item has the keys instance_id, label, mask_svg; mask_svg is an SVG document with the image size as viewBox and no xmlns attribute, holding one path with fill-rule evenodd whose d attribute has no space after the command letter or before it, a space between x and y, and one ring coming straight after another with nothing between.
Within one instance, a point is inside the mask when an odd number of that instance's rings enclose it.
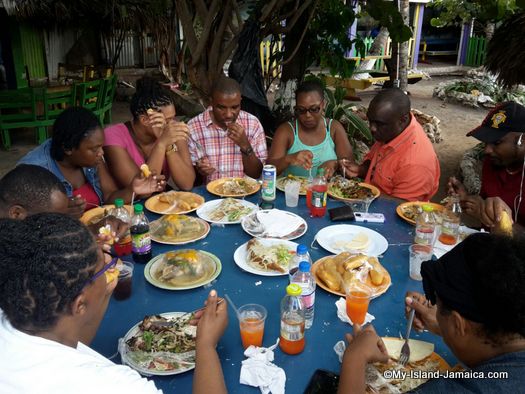
<instances>
[{"instance_id":1,"label":"bald man in coral-orange shirt seated at the table","mask_svg":"<svg viewBox=\"0 0 525 394\"><path fill-rule=\"evenodd\" d=\"M368 107L376 142L363 164L343 162L349 177L364 178L384 194L408 201L428 201L439 186L439 160L432 143L400 89L381 91Z\"/></svg>"}]
</instances>

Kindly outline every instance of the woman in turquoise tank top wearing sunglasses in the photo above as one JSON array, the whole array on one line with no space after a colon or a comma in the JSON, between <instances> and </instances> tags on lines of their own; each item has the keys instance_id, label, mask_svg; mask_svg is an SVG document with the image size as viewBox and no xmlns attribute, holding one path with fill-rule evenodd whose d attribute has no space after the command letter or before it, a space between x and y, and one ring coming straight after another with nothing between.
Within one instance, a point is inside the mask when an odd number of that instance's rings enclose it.
<instances>
[{"instance_id":1,"label":"woman in turquoise tank top wearing sunglasses","mask_svg":"<svg viewBox=\"0 0 525 394\"><path fill-rule=\"evenodd\" d=\"M325 169L331 177L339 159L353 159L352 146L337 120L327 119L324 112L323 86L315 81L303 82L295 92L295 121L277 128L268 155L268 164L297 176L315 175Z\"/></svg>"}]
</instances>

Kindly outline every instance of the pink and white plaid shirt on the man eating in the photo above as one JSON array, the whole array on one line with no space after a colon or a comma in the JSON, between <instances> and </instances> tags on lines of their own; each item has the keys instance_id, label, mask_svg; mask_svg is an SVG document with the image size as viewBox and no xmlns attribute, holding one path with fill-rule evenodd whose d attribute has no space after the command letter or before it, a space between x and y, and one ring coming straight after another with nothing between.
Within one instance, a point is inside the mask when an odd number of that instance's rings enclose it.
<instances>
[{"instance_id":1,"label":"pink and white plaid shirt on the man eating","mask_svg":"<svg viewBox=\"0 0 525 394\"><path fill-rule=\"evenodd\" d=\"M210 113L211 107L188 122L192 162L208 157L210 165L217 170L206 177L206 183L219 178L244 177L240 147L227 137L226 130L213 123ZM264 164L268 152L261 122L248 112L240 111L236 123L244 128L255 156Z\"/></svg>"}]
</instances>

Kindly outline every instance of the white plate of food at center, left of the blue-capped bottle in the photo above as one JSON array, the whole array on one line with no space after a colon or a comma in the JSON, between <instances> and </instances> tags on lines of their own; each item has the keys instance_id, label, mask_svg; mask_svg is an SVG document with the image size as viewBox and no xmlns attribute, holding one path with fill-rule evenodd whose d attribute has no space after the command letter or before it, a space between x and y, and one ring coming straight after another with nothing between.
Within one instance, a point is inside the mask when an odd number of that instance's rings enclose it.
<instances>
[{"instance_id":1,"label":"white plate of food at center, left of the blue-capped bottle","mask_svg":"<svg viewBox=\"0 0 525 394\"><path fill-rule=\"evenodd\" d=\"M262 276L288 274L288 264L298 244L271 238L252 238L233 254L235 264L243 271Z\"/></svg>"}]
</instances>

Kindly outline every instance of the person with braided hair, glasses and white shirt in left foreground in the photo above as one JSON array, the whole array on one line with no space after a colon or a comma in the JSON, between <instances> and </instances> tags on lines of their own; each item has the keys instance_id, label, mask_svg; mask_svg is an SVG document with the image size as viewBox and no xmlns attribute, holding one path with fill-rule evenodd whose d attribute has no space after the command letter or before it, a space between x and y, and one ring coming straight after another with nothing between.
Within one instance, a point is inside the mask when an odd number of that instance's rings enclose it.
<instances>
[{"instance_id":1,"label":"person with braided hair, glasses and white shirt in left foreground","mask_svg":"<svg viewBox=\"0 0 525 394\"><path fill-rule=\"evenodd\" d=\"M0 393L161 392L88 347L116 275L87 227L53 213L1 219L0 254ZM226 392L215 347L227 321L212 290L193 321L194 392Z\"/></svg>"}]
</instances>

